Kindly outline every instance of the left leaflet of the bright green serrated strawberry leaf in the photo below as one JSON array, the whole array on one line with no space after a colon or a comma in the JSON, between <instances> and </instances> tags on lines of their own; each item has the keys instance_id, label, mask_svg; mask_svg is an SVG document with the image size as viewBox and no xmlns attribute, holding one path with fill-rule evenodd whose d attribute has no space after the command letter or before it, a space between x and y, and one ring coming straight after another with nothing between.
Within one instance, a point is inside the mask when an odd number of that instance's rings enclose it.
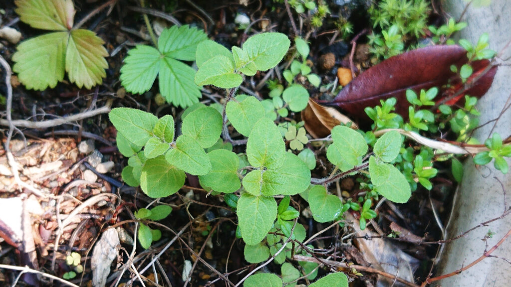
<instances>
[{"instance_id":1,"label":"left leaflet of the bright green serrated strawberry leaf","mask_svg":"<svg viewBox=\"0 0 511 287\"><path fill-rule=\"evenodd\" d=\"M132 93L148 91L158 75L160 53L154 47L136 45L128 51L121 67L121 84Z\"/></svg>"}]
</instances>

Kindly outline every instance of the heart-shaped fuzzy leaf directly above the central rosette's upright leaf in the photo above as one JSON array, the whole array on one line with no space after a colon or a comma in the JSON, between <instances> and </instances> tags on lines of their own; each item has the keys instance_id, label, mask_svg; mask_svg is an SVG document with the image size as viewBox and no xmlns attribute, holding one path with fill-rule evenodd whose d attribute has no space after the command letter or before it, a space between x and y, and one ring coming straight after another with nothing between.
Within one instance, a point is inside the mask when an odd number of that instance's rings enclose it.
<instances>
[{"instance_id":1,"label":"heart-shaped fuzzy leaf directly above the central rosette's upright leaf","mask_svg":"<svg viewBox=\"0 0 511 287\"><path fill-rule=\"evenodd\" d=\"M252 127L264 114L264 107L255 97L247 97L241 102L230 101L225 107L225 113L233 127L242 135L247 136Z\"/></svg>"}]
</instances>

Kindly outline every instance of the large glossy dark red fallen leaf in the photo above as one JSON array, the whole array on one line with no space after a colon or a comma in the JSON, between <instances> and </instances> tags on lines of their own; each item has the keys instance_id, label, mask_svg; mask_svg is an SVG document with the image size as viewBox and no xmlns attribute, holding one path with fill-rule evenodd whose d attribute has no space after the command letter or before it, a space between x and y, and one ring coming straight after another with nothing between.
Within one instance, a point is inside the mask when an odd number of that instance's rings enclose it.
<instances>
[{"instance_id":1,"label":"large glossy dark red fallen leaf","mask_svg":"<svg viewBox=\"0 0 511 287\"><path fill-rule=\"evenodd\" d=\"M319 103L336 106L361 121L368 121L364 108L375 107L380 100L391 97L398 99L396 112L407 117L407 89L419 93L421 89L439 87L441 94L437 96L437 101L456 93L480 98L492 85L497 67L486 69L490 61L475 61L472 63L474 75L461 84L459 76L451 71L451 65L459 70L467 61L467 51L457 45L423 47L391 57L367 69L342 88L333 101ZM449 81L451 87L442 88ZM453 101L449 103L454 104Z\"/></svg>"}]
</instances>

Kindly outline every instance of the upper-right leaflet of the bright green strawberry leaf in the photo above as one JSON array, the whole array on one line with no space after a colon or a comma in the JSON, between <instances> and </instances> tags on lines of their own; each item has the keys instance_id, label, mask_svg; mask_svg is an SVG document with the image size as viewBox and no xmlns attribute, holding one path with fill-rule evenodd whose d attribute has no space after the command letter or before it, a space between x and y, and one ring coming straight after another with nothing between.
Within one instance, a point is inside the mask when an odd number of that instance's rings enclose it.
<instances>
[{"instance_id":1,"label":"upper-right leaflet of the bright green strawberry leaf","mask_svg":"<svg viewBox=\"0 0 511 287\"><path fill-rule=\"evenodd\" d=\"M194 61L197 44L207 40L207 35L196 27L172 26L161 32L158 50L165 57L183 61Z\"/></svg>"}]
</instances>

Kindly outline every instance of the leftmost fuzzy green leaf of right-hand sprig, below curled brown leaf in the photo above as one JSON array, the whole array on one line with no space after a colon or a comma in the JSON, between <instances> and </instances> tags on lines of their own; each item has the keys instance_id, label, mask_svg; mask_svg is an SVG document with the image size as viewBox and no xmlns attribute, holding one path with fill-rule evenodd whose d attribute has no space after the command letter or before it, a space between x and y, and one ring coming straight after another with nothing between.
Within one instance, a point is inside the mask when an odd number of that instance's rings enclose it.
<instances>
[{"instance_id":1,"label":"leftmost fuzzy green leaf of right-hand sprig, below curled brown leaf","mask_svg":"<svg viewBox=\"0 0 511 287\"><path fill-rule=\"evenodd\" d=\"M334 142L327 150L327 158L343 172L360 163L360 157L367 153L364 137L353 129L336 126L332 129Z\"/></svg>"}]
</instances>

